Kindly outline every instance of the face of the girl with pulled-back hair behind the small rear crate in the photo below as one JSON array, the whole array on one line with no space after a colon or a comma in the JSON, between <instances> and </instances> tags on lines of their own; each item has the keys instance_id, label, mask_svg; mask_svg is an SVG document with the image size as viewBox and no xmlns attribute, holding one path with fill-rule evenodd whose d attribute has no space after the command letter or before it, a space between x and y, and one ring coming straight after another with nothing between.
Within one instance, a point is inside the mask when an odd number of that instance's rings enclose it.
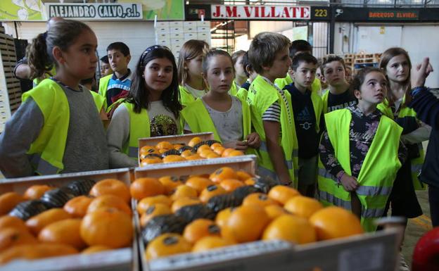
<instances>
[{"instance_id":1,"label":"face of the girl with pulled-back hair behind the small rear crate","mask_svg":"<svg viewBox=\"0 0 439 271\"><path fill-rule=\"evenodd\" d=\"M234 80L233 63L227 56L212 56L208 72L204 75L211 92L227 93Z\"/></svg>"}]
</instances>

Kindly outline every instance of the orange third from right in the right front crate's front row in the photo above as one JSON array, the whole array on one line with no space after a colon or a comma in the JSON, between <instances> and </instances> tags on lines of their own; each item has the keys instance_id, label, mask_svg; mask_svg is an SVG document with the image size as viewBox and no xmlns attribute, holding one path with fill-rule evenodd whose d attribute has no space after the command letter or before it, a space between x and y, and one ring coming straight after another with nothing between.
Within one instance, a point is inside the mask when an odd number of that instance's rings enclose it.
<instances>
[{"instance_id":1,"label":"orange third from right in the right front crate's front row","mask_svg":"<svg viewBox=\"0 0 439 271\"><path fill-rule=\"evenodd\" d=\"M240 206L231 213L227 221L231 238L238 243L256 241L269 223L264 208L258 205Z\"/></svg>"}]
</instances>

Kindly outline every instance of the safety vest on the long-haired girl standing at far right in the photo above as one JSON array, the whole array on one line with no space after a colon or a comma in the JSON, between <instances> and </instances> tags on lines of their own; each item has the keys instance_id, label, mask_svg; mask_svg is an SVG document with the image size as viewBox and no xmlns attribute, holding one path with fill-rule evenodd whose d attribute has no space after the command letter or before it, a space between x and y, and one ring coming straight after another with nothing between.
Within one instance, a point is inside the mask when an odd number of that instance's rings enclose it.
<instances>
[{"instance_id":1,"label":"safety vest on the long-haired girl standing at far right","mask_svg":"<svg viewBox=\"0 0 439 271\"><path fill-rule=\"evenodd\" d=\"M402 98L402 104L405 103L405 96ZM388 100L384 99L383 103L379 103L377 108L388 118L394 119L392 108L390 108ZM413 110L413 108L408 108L405 106L404 108L401 108L400 113L398 113L398 118L405 118L405 117L415 117L416 118L416 112ZM414 189L416 190L425 190L426 185L424 185L421 180L419 180L419 175L421 175L421 169L422 165L424 164L424 147L422 146L422 143L416 144L419 149L419 157L410 159L410 167L412 171L412 182Z\"/></svg>"}]
</instances>

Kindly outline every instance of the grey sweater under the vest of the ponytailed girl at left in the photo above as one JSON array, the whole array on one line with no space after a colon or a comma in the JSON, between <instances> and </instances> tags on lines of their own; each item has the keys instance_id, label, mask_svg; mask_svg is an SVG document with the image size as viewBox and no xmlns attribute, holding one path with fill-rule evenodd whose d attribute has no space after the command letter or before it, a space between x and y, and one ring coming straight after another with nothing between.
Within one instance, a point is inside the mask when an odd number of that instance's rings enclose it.
<instances>
[{"instance_id":1,"label":"grey sweater under the vest of the ponytailed girl at left","mask_svg":"<svg viewBox=\"0 0 439 271\"><path fill-rule=\"evenodd\" d=\"M61 173L108 169L106 134L93 97L61 86L67 96L70 120ZM0 134L0 170L5 177L34 175L26 152L37 139L44 116L30 97L6 123Z\"/></svg>"}]
</instances>

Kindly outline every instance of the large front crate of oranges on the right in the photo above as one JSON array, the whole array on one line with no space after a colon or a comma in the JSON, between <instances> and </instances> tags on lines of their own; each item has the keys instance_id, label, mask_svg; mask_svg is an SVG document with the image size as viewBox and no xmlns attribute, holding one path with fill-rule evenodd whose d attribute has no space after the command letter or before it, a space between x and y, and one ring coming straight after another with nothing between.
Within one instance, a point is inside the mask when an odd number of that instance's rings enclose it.
<instances>
[{"instance_id":1,"label":"large front crate of oranges on the right","mask_svg":"<svg viewBox=\"0 0 439 271\"><path fill-rule=\"evenodd\" d=\"M134 175L144 270L395 267L397 232L364 234L347 210L257 177L254 156L154 165Z\"/></svg>"}]
</instances>

